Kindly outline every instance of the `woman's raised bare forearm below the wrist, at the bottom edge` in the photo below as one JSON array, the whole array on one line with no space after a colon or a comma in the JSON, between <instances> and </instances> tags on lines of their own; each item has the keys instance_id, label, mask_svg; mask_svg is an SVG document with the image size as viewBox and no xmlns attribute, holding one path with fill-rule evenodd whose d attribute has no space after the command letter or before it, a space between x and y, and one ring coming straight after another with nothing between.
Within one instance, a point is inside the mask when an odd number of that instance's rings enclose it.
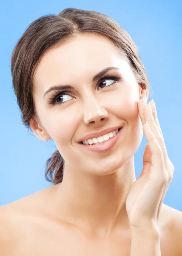
<instances>
[{"instance_id":1,"label":"woman's raised bare forearm below the wrist, at the bottom edge","mask_svg":"<svg viewBox=\"0 0 182 256\"><path fill-rule=\"evenodd\" d=\"M160 234L156 230L131 230L130 256L161 256Z\"/></svg>"}]
</instances>

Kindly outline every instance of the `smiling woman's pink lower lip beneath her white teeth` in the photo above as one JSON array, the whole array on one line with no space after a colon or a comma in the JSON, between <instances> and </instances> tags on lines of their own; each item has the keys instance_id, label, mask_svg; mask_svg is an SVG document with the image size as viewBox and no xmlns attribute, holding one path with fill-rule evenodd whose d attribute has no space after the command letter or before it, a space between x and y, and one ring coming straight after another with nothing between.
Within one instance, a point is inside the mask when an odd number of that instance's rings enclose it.
<instances>
[{"instance_id":1,"label":"smiling woman's pink lower lip beneath her white teeth","mask_svg":"<svg viewBox=\"0 0 182 256\"><path fill-rule=\"evenodd\" d=\"M122 134L122 130L123 130L123 127L118 131L118 133L116 135L114 135L109 140L106 140L102 144L100 144L100 143L97 143L95 145L89 145L89 144L85 145L82 143L78 143L78 144L81 145L82 147L84 147L85 149L89 149L91 151L105 151L114 146L114 144L117 142L117 140L119 138L119 135Z\"/></svg>"}]
</instances>

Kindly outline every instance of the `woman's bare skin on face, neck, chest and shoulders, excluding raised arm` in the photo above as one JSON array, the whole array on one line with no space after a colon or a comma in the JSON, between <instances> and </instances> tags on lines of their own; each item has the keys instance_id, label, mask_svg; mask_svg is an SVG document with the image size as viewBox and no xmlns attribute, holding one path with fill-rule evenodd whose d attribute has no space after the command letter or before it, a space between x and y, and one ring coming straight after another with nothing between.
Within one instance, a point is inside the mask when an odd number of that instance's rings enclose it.
<instances>
[{"instance_id":1,"label":"woman's bare skin on face, neck, chest and shoulders, excluding raised arm","mask_svg":"<svg viewBox=\"0 0 182 256\"><path fill-rule=\"evenodd\" d=\"M92 81L106 67L113 79ZM50 105L57 84L70 84L62 105ZM101 87L103 86L103 87ZM101 87L101 88L100 88ZM105 88L108 87L108 88ZM129 256L130 225L125 202L135 182L134 154L142 141L137 102L148 98L131 67L103 36L78 35L49 50L34 76L38 119L30 127L41 140L54 140L65 160L63 181L0 207L3 255ZM58 97L57 97L58 99ZM109 150L93 152L77 141L87 134L123 125ZM142 170L141 170L142 171ZM163 256L174 256L170 229L176 210L163 204L159 228Z\"/></svg>"}]
</instances>

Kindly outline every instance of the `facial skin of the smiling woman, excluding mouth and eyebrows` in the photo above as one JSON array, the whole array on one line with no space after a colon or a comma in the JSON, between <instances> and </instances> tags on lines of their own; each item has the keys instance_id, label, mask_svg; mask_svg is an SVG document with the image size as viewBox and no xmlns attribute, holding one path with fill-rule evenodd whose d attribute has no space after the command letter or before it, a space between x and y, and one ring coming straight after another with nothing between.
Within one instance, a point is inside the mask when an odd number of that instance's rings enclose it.
<instances>
[{"instance_id":1,"label":"facial skin of the smiling woman, excluding mouth and eyebrows","mask_svg":"<svg viewBox=\"0 0 182 256\"><path fill-rule=\"evenodd\" d=\"M119 81L93 81L107 67L117 67L105 75ZM61 90L46 91L63 84L73 89L62 90L66 94L56 96L54 104L49 104ZM113 86L108 87L110 84ZM80 34L48 50L34 76L33 96L41 123L32 130L42 140L54 140L65 160L65 171L70 168L95 175L110 174L139 148L143 131L137 102L146 97L146 90L137 84L117 47L104 36ZM85 135L116 126L124 127L109 150L91 151L77 143Z\"/></svg>"}]
</instances>

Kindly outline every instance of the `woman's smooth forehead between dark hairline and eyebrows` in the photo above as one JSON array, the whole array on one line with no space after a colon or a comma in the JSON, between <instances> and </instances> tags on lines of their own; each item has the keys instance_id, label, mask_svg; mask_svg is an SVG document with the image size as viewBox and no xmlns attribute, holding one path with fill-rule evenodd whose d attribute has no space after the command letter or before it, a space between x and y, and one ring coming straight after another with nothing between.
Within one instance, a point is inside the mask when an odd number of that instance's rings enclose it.
<instances>
[{"instance_id":1,"label":"woman's smooth forehead between dark hairline and eyebrows","mask_svg":"<svg viewBox=\"0 0 182 256\"><path fill-rule=\"evenodd\" d=\"M59 83L57 79L71 81L71 78L83 78L84 74L92 79L105 67L121 66L122 61L125 66L124 56L109 38L93 33L79 34L44 53L34 84L47 88Z\"/></svg>"}]
</instances>

